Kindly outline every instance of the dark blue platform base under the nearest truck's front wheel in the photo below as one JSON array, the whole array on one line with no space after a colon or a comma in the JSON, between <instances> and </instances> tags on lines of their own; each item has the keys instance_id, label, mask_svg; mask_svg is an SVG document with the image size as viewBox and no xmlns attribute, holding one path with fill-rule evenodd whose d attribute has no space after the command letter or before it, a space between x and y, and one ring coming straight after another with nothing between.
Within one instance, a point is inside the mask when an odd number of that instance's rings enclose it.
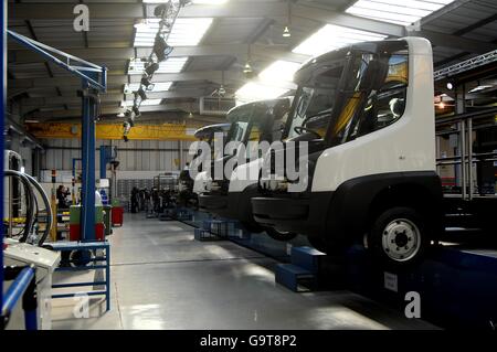
<instances>
[{"instance_id":1,"label":"dark blue platform base under the nearest truck's front wheel","mask_svg":"<svg viewBox=\"0 0 497 352\"><path fill-rule=\"evenodd\" d=\"M346 270L349 289L401 311L409 303L405 295L419 292L421 319L441 327L497 328L497 250L435 247L419 265L392 270L356 246Z\"/></svg>"}]
</instances>

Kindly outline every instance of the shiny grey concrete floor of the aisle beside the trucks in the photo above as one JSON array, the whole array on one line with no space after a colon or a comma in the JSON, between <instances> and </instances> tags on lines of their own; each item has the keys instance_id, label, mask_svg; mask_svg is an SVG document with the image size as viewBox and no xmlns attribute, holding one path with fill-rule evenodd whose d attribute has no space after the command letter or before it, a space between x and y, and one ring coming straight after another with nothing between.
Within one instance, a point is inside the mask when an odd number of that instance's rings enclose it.
<instances>
[{"instance_id":1,"label":"shiny grey concrete floor of the aisle beside the trucks","mask_svg":"<svg viewBox=\"0 0 497 352\"><path fill-rule=\"evenodd\" d=\"M349 291L292 292L275 284L274 259L197 242L179 222L128 214L110 243L112 310L95 299L89 318L76 319L74 299L53 300L53 329L435 328Z\"/></svg>"}]
</instances>

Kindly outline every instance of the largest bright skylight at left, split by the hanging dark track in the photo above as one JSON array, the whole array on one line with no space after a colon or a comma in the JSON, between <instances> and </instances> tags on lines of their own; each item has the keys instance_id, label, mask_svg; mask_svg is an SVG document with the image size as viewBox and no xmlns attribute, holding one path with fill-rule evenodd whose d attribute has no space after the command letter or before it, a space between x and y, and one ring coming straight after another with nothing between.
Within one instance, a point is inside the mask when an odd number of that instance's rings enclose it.
<instances>
[{"instance_id":1,"label":"largest bright skylight at left, split by the hanging dark track","mask_svg":"<svg viewBox=\"0 0 497 352\"><path fill-rule=\"evenodd\" d=\"M159 21L159 19L147 19L146 24L138 26L134 46L154 46ZM212 19L210 18L177 19L166 42L171 46L198 45L211 24Z\"/></svg>"}]
</instances>

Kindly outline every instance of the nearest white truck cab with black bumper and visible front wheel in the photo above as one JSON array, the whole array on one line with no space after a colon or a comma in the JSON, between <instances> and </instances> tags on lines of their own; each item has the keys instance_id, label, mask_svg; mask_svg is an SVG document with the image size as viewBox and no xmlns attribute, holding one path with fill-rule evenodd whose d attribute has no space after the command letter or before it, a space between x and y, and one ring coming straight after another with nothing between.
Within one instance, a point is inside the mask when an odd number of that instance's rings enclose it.
<instances>
[{"instance_id":1,"label":"nearest white truck cab with black bumper and visible front wheel","mask_svg":"<svg viewBox=\"0 0 497 352\"><path fill-rule=\"evenodd\" d=\"M308 142L306 159L296 160L307 188L292 193L286 174L276 184L261 178L257 223L307 235L327 253L367 235L389 263L420 257L442 218L430 42L353 44L307 62L295 77L287 135L297 149Z\"/></svg>"}]
</instances>

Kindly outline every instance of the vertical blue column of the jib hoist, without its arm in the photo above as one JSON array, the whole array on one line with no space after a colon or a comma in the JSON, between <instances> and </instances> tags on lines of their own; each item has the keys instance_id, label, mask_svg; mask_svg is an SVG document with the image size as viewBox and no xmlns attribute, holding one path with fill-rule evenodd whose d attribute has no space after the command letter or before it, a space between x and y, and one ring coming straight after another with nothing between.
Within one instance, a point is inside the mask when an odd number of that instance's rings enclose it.
<instances>
[{"instance_id":1,"label":"vertical blue column of the jib hoist, without its arm","mask_svg":"<svg viewBox=\"0 0 497 352\"><path fill-rule=\"evenodd\" d=\"M83 87L88 83L83 82ZM82 93L82 196L81 241L95 241L95 100Z\"/></svg>"}]
</instances>

